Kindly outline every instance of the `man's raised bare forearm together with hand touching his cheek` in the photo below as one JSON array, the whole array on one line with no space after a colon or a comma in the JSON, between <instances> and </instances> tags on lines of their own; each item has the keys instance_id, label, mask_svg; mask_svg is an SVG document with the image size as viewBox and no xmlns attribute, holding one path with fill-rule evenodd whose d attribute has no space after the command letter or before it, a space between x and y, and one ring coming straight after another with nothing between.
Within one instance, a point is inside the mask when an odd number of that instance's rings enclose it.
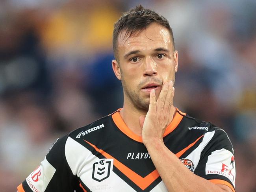
<instances>
[{"instance_id":1,"label":"man's raised bare forearm together with hand touching his cheek","mask_svg":"<svg viewBox=\"0 0 256 192\"><path fill-rule=\"evenodd\" d=\"M154 90L146 116L139 117L142 139L148 153L169 192L232 192L229 186L214 184L193 174L163 143L163 134L173 116L173 82L165 82L158 100Z\"/></svg>"}]
</instances>

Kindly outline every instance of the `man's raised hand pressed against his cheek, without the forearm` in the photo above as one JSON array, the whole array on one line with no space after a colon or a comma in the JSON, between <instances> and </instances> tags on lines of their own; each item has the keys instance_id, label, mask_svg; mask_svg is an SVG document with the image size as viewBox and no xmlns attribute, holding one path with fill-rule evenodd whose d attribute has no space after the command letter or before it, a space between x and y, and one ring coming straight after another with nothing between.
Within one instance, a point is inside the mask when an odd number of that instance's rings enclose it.
<instances>
[{"instance_id":1,"label":"man's raised hand pressed against his cheek, without the forearm","mask_svg":"<svg viewBox=\"0 0 256 192\"><path fill-rule=\"evenodd\" d=\"M163 83L157 101L155 90L151 90L148 113L146 116L139 117L139 123L142 128L142 139L145 145L152 142L152 140L163 142L165 129L173 119L173 116L171 116L173 96L173 81Z\"/></svg>"}]
</instances>

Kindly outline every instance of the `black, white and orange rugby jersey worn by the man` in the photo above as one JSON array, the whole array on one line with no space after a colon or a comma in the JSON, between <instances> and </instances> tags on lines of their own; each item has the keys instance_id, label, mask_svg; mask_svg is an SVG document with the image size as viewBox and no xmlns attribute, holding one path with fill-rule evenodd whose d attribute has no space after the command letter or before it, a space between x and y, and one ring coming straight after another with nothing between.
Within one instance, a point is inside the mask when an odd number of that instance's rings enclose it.
<instances>
[{"instance_id":1,"label":"black, white and orange rugby jersey worn by the man","mask_svg":"<svg viewBox=\"0 0 256 192\"><path fill-rule=\"evenodd\" d=\"M119 111L59 138L18 191L167 192L142 138ZM234 150L222 129L177 109L163 141L191 172L235 191Z\"/></svg>"}]
</instances>

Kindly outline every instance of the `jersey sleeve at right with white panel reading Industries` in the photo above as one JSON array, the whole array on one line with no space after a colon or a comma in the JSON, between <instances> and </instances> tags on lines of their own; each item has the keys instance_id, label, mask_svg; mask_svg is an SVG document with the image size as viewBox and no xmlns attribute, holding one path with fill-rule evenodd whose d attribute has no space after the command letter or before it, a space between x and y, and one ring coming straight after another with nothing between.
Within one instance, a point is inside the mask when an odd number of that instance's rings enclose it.
<instances>
[{"instance_id":1,"label":"jersey sleeve at right with white panel reading Industries","mask_svg":"<svg viewBox=\"0 0 256 192\"><path fill-rule=\"evenodd\" d=\"M235 192L234 149L223 129L215 129L213 138L201 153L194 173L212 183L229 186Z\"/></svg>"}]
</instances>

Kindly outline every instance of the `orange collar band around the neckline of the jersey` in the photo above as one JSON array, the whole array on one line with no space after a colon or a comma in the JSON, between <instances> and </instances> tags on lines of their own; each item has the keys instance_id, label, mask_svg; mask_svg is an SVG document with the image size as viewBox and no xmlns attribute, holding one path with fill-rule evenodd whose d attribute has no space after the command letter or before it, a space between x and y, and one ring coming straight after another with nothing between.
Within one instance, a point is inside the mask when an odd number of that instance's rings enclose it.
<instances>
[{"instance_id":1,"label":"orange collar band around the neckline of the jersey","mask_svg":"<svg viewBox=\"0 0 256 192\"><path fill-rule=\"evenodd\" d=\"M125 124L124 120L122 120L122 117L119 113L121 109L118 109L116 113L112 114L112 118L114 123L116 124L116 126L128 137L132 138L135 141L138 142L143 142L142 141L142 137L139 135L136 135L135 133L133 133ZM176 108L176 110L178 111L178 109ZM182 113L184 114L184 113ZM165 133L163 134L163 137L165 137L166 135L168 135L169 133L171 133L177 126L178 124L181 122L183 116L180 113L175 113L173 120L171 121L171 123L166 127L165 129Z\"/></svg>"}]
</instances>

